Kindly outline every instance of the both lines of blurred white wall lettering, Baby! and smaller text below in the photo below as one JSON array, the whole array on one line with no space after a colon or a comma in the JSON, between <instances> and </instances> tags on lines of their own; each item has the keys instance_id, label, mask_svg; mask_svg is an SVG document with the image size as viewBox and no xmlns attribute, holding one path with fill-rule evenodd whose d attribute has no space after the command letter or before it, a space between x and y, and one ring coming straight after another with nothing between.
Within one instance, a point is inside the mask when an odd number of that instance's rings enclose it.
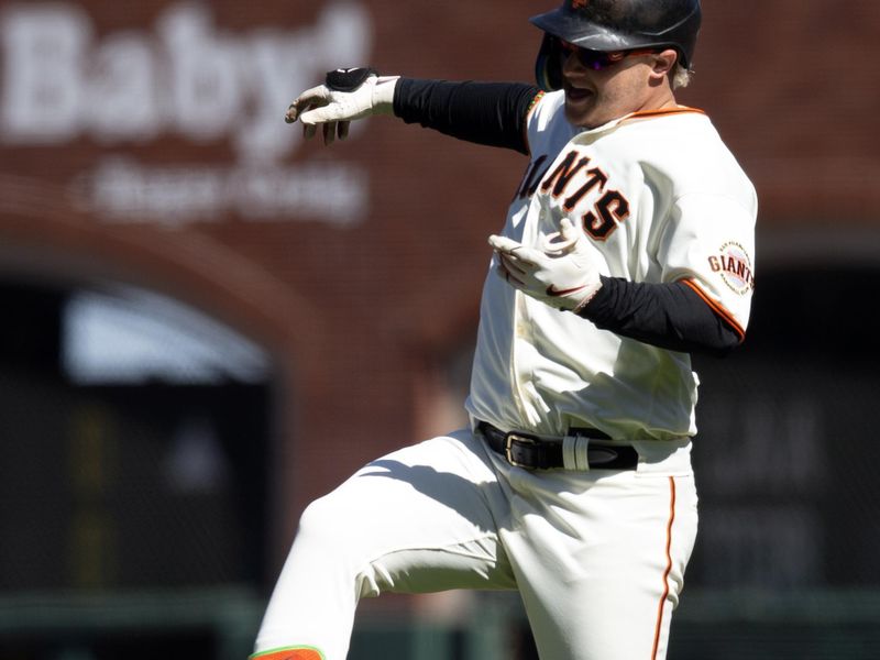
<instances>
[{"instance_id":1,"label":"both lines of blurred white wall lettering, Baby! and smaller text below","mask_svg":"<svg viewBox=\"0 0 880 660\"><path fill-rule=\"evenodd\" d=\"M72 190L109 222L177 227L234 211L244 221L351 227L366 216L365 169L278 165L301 143L283 120L293 96L332 68L369 62L361 2L329 0L312 25L246 34L218 29L209 6L179 2L153 31L100 40L74 3L21 3L0 11L0 143L61 146L85 136L117 147L176 136L233 150L237 163L226 167L99 158Z\"/></svg>"}]
</instances>

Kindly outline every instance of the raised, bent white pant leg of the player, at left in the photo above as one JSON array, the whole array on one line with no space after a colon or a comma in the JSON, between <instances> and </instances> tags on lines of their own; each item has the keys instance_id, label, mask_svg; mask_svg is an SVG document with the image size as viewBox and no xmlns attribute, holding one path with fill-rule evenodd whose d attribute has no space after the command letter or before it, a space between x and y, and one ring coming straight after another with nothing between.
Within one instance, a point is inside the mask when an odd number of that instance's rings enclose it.
<instances>
[{"instance_id":1,"label":"raised, bent white pant leg of the player, at left","mask_svg":"<svg viewBox=\"0 0 880 660\"><path fill-rule=\"evenodd\" d=\"M343 660L363 596L513 588L492 513L502 497L470 430L367 464L302 514L256 652L301 646Z\"/></svg>"}]
</instances>

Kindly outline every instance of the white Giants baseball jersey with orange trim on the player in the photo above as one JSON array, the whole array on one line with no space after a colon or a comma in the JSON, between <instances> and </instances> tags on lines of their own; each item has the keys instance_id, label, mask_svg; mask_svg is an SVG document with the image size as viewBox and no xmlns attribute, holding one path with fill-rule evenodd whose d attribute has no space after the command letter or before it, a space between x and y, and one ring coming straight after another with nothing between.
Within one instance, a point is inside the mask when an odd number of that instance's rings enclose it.
<instances>
[{"instance_id":1,"label":"white Giants baseball jersey with orange trim on the player","mask_svg":"<svg viewBox=\"0 0 880 660\"><path fill-rule=\"evenodd\" d=\"M741 336L755 283L757 198L710 119L679 107L582 130L565 121L563 106L558 91L530 111L531 163L502 233L540 248L568 216L603 275L685 282ZM698 380L689 354L549 307L492 265L466 403L474 418L551 436L570 427L620 440L696 432Z\"/></svg>"}]
</instances>

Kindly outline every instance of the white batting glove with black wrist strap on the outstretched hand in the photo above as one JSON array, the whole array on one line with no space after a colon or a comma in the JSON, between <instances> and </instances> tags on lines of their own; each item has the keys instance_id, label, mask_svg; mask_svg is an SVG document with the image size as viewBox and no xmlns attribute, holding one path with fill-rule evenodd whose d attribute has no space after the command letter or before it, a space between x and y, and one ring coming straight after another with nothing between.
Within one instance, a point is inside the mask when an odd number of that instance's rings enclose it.
<instances>
[{"instance_id":1,"label":"white batting glove with black wrist strap on the outstretched hand","mask_svg":"<svg viewBox=\"0 0 880 660\"><path fill-rule=\"evenodd\" d=\"M384 76L372 68L329 72L323 85L300 94L287 108L284 120L302 122L302 134L311 139L323 129L323 142L349 136L352 120L393 111L394 88L399 76Z\"/></svg>"}]
</instances>

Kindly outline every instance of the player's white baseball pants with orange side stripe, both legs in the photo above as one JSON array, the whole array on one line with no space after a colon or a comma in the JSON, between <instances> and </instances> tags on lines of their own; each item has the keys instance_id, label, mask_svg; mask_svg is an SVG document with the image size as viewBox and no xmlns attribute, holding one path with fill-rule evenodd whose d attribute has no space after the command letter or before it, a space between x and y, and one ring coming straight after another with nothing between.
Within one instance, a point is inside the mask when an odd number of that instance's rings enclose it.
<instances>
[{"instance_id":1,"label":"player's white baseball pants with orange side stripe, both legs","mask_svg":"<svg viewBox=\"0 0 880 660\"><path fill-rule=\"evenodd\" d=\"M529 472L464 429L367 464L302 514L255 656L343 660L359 598L486 588L519 590L544 660L666 658L696 491L690 443L637 449L635 471Z\"/></svg>"}]
</instances>

